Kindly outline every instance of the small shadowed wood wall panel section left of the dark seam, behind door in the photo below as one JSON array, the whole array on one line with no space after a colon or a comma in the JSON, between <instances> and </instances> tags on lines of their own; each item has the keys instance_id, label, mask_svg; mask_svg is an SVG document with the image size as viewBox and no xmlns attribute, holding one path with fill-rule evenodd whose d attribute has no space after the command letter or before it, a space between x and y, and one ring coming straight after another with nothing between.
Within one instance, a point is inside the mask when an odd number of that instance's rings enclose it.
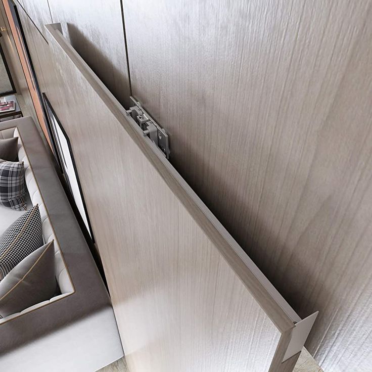
<instances>
[{"instance_id":1,"label":"small shadowed wood wall panel section left of the dark seam, behind door","mask_svg":"<svg viewBox=\"0 0 372 372\"><path fill-rule=\"evenodd\" d=\"M120 0L49 0L49 5L53 22L61 23L72 46L128 108L130 91Z\"/></svg>"}]
</instances>

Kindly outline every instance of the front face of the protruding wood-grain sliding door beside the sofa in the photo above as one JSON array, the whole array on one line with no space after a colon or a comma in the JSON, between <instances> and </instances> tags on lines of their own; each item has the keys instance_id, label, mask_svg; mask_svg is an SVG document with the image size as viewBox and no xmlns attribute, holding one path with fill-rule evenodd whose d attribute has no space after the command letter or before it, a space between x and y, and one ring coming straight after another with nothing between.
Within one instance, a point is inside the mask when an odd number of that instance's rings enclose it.
<instances>
[{"instance_id":1,"label":"front face of the protruding wood-grain sliding door beside the sofa","mask_svg":"<svg viewBox=\"0 0 372 372\"><path fill-rule=\"evenodd\" d=\"M275 327L222 257L216 232L196 222L205 217L180 202L190 196L159 171L166 160L58 35L48 38L47 94L71 140L130 370L291 371L298 355L270 368L291 328Z\"/></svg>"}]
</instances>

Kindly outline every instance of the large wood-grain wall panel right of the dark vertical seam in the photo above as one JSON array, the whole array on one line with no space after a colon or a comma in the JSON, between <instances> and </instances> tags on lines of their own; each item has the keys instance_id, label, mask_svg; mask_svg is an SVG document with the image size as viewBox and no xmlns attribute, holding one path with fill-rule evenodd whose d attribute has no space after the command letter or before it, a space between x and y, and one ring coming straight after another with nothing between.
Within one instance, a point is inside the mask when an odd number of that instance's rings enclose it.
<instances>
[{"instance_id":1,"label":"large wood-grain wall panel right of the dark vertical seam","mask_svg":"<svg viewBox=\"0 0 372 372\"><path fill-rule=\"evenodd\" d=\"M138 22L141 15L141 22ZM324 370L372 365L370 1L127 0L133 95Z\"/></svg>"}]
</instances>

